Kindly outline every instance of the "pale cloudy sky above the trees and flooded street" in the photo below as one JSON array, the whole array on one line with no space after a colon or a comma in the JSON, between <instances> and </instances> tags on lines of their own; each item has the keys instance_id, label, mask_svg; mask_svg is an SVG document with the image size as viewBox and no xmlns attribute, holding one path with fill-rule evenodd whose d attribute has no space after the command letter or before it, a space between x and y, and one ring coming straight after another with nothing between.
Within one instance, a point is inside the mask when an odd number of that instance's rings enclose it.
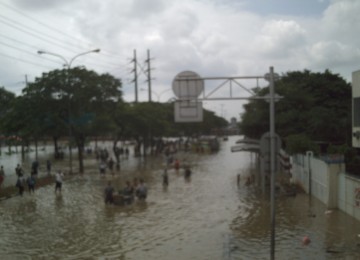
<instances>
[{"instance_id":1,"label":"pale cloudy sky above the trees and flooded street","mask_svg":"<svg viewBox=\"0 0 360 260\"><path fill-rule=\"evenodd\" d=\"M133 102L136 51L140 102L148 101L149 53L154 101L173 98L176 75L193 71L205 79L203 107L239 121L248 90L268 83L225 78L273 67L279 75L329 69L351 82L360 69L359 13L358 0L2 0L0 87L20 95L26 81L73 59L72 67L121 79Z\"/></svg>"}]
</instances>

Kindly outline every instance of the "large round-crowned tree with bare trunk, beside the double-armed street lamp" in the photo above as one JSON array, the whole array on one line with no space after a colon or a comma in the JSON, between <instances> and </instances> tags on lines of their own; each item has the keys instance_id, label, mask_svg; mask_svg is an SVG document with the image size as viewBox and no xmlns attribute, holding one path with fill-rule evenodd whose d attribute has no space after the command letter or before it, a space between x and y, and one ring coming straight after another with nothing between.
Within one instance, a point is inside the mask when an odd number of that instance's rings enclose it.
<instances>
[{"instance_id":1,"label":"large round-crowned tree with bare trunk, beside the double-armed street lamp","mask_svg":"<svg viewBox=\"0 0 360 260\"><path fill-rule=\"evenodd\" d=\"M84 170L83 151L86 138L101 122L102 134L110 132L109 116L122 102L121 81L109 74L97 74L84 67L54 70L29 84L24 97L37 101L37 113L51 122L47 133L67 132L73 138L79 154L79 171ZM50 127L51 126L51 127ZM60 127L60 129L58 128ZM63 131L65 130L65 131Z\"/></svg>"}]
</instances>

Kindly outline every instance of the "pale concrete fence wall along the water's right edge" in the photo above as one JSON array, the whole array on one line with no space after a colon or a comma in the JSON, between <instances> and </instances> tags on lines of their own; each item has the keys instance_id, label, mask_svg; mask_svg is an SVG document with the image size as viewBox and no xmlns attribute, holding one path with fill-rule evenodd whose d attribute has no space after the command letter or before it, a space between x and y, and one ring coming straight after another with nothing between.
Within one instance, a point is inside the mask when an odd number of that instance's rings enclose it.
<instances>
[{"instance_id":1,"label":"pale concrete fence wall along the water's right edge","mask_svg":"<svg viewBox=\"0 0 360 260\"><path fill-rule=\"evenodd\" d=\"M360 178L345 172L342 156L316 158L312 152L291 156L292 182L327 208L338 208L360 220Z\"/></svg>"}]
</instances>

